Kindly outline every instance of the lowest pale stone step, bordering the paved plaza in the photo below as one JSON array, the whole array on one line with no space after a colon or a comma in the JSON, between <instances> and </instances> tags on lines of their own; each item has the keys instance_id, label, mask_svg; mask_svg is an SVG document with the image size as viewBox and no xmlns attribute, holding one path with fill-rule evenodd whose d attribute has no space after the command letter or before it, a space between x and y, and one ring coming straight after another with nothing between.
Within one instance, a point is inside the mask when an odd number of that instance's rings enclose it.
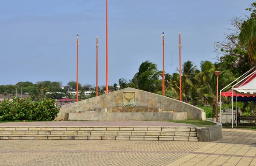
<instances>
[{"instance_id":1,"label":"lowest pale stone step, bordering the paved plaza","mask_svg":"<svg viewBox=\"0 0 256 166\"><path fill-rule=\"evenodd\" d=\"M0 135L0 140L148 140L148 141L198 141L188 136L140 135Z\"/></svg>"}]
</instances>

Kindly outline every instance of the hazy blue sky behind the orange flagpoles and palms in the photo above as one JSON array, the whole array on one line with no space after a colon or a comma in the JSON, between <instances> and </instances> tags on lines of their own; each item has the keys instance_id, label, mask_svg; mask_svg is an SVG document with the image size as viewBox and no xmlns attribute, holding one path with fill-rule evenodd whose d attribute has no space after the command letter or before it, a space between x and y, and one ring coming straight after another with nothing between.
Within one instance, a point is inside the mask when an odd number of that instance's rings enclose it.
<instances>
[{"instance_id":1,"label":"hazy blue sky behind the orange flagpoles and palms","mask_svg":"<svg viewBox=\"0 0 256 166\"><path fill-rule=\"evenodd\" d=\"M149 60L165 70L182 63L215 62L212 43L224 38L234 16L251 0L108 0L109 84L132 79ZM105 85L105 0L6 0L0 3L0 84L20 81L76 81L79 34L79 82L96 84L96 36L99 36L99 85Z\"/></svg>"}]
</instances>

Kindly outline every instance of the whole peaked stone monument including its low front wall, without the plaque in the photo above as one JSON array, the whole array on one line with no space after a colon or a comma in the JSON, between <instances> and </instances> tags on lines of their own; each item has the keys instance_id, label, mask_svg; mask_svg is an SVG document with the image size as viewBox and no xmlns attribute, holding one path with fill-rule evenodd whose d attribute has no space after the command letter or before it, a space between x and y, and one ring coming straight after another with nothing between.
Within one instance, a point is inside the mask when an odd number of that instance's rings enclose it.
<instances>
[{"instance_id":1,"label":"whole peaked stone monument including its low front wall, without the plaque","mask_svg":"<svg viewBox=\"0 0 256 166\"><path fill-rule=\"evenodd\" d=\"M135 106L123 105L123 92L135 94ZM202 119L204 110L169 97L125 88L61 107L63 120L184 120Z\"/></svg>"}]
</instances>

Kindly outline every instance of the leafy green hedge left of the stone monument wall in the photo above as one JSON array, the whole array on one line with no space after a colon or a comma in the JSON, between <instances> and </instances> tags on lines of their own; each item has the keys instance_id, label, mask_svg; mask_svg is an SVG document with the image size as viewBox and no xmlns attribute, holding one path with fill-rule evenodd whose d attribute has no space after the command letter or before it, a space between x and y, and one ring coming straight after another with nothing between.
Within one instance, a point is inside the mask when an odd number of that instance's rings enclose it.
<instances>
[{"instance_id":1,"label":"leafy green hedge left of the stone monument wall","mask_svg":"<svg viewBox=\"0 0 256 166\"><path fill-rule=\"evenodd\" d=\"M31 98L9 98L0 101L0 121L52 121L57 117L60 107L55 99L33 102Z\"/></svg>"}]
</instances>

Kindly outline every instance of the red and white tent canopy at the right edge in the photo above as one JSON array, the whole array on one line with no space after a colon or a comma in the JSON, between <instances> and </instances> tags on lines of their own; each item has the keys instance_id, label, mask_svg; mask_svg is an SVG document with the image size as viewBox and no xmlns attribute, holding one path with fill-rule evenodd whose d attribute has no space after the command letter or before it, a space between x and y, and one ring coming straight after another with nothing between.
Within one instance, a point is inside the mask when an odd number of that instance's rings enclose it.
<instances>
[{"instance_id":1,"label":"red and white tent canopy at the right edge","mask_svg":"<svg viewBox=\"0 0 256 166\"><path fill-rule=\"evenodd\" d=\"M252 82L254 80L254 83ZM250 87L254 84L254 91L255 93L240 93L239 91L235 91L238 88L244 87L245 85L249 85ZM243 82L241 82L237 87L234 88L234 92L233 95L236 96L236 92L238 93L238 99L240 97L255 97L256 96L256 72L253 73L251 76L247 77L246 79L244 79ZM225 96L225 97L232 97L232 89L227 91L227 92L221 92L221 96ZM239 100L240 101L240 100Z\"/></svg>"}]
</instances>

